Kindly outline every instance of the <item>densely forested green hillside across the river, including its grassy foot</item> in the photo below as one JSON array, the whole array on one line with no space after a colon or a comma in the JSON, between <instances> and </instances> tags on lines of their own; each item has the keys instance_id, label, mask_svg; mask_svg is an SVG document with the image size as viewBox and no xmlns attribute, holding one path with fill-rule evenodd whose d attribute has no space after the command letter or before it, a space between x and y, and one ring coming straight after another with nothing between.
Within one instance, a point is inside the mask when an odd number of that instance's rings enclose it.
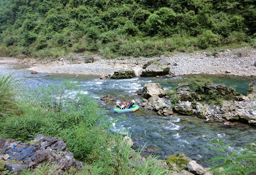
<instances>
[{"instance_id":1,"label":"densely forested green hillside across the river, including its grassy foot","mask_svg":"<svg viewBox=\"0 0 256 175\"><path fill-rule=\"evenodd\" d=\"M256 46L256 0L0 0L0 56Z\"/></svg>"}]
</instances>

